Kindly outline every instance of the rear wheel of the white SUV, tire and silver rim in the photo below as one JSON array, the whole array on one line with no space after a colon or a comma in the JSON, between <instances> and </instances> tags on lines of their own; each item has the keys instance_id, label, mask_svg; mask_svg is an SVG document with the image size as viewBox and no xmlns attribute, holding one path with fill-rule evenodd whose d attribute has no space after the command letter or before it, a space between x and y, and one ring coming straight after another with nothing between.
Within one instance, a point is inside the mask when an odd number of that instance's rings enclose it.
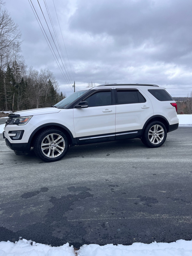
<instances>
[{"instance_id":1,"label":"rear wheel of the white SUV, tire and silver rim","mask_svg":"<svg viewBox=\"0 0 192 256\"><path fill-rule=\"evenodd\" d=\"M162 122L153 121L145 128L141 138L144 145L150 148L158 148L167 138L167 129Z\"/></svg>"}]
</instances>

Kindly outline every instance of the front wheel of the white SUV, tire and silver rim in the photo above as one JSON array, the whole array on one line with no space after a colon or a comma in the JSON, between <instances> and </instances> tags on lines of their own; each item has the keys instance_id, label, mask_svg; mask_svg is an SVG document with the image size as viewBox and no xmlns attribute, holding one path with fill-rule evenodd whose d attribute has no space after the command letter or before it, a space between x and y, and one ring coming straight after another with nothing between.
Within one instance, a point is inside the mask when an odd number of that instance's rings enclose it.
<instances>
[{"instance_id":1,"label":"front wheel of the white SUV, tire and silver rim","mask_svg":"<svg viewBox=\"0 0 192 256\"><path fill-rule=\"evenodd\" d=\"M64 157L69 148L69 143L64 132L47 128L37 135L34 141L34 152L45 162L58 161Z\"/></svg>"}]
</instances>

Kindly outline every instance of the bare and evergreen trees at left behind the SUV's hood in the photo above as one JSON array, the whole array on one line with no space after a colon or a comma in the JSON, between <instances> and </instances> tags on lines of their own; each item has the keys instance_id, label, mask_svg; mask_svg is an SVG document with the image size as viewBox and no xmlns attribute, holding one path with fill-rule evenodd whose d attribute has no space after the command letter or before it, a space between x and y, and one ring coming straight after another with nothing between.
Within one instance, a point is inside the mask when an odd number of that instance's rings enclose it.
<instances>
[{"instance_id":1,"label":"bare and evergreen trees at left behind the SUV's hood","mask_svg":"<svg viewBox=\"0 0 192 256\"><path fill-rule=\"evenodd\" d=\"M2 5L0 0L0 110L50 107L65 95L51 71L25 65L21 32Z\"/></svg>"}]
</instances>

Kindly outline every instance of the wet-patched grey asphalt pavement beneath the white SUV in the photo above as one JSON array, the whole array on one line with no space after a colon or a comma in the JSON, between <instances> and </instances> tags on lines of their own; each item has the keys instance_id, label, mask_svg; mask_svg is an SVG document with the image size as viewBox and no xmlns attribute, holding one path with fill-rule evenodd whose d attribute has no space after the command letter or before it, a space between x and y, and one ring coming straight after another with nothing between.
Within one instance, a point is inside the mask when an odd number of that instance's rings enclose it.
<instances>
[{"instance_id":1,"label":"wet-patched grey asphalt pavement beneath the white SUV","mask_svg":"<svg viewBox=\"0 0 192 256\"><path fill-rule=\"evenodd\" d=\"M192 239L192 128L75 146L61 161L17 156L0 134L0 241L63 245Z\"/></svg>"}]
</instances>

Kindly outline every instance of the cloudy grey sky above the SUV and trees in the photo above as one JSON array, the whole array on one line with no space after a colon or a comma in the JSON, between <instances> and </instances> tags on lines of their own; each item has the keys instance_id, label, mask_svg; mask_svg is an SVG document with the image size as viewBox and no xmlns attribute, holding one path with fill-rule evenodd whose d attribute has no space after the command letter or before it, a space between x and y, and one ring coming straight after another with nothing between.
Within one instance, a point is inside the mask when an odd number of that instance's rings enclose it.
<instances>
[{"instance_id":1,"label":"cloudy grey sky above the SUV and trees","mask_svg":"<svg viewBox=\"0 0 192 256\"><path fill-rule=\"evenodd\" d=\"M74 81L76 90L92 82L158 84L173 97L192 92L191 0L5 2L21 30L26 65L48 68L67 95Z\"/></svg>"}]
</instances>

